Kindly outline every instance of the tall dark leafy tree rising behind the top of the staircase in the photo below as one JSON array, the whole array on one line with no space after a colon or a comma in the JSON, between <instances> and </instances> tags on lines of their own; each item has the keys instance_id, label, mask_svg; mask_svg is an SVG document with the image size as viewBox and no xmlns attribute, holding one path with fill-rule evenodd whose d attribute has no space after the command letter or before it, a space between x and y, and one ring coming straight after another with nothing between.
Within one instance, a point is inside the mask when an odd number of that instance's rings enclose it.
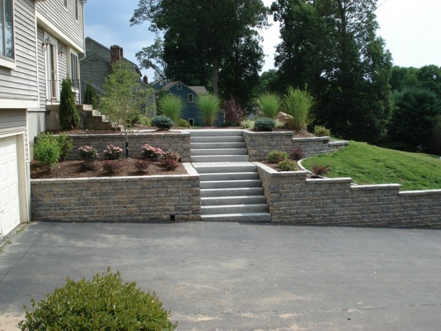
<instances>
[{"instance_id":1,"label":"tall dark leafy tree rising behind the top of the staircase","mask_svg":"<svg viewBox=\"0 0 441 331\"><path fill-rule=\"evenodd\" d=\"M266 23L266 14L262 0L139 0L130 21L150 21L151 30L165 31L167 65L171 59L177 59L181 67L196 59L199 65L208 66L214 94L218 94L222 61L232 53L235 41Z\"/></svg>"}]
</instances>

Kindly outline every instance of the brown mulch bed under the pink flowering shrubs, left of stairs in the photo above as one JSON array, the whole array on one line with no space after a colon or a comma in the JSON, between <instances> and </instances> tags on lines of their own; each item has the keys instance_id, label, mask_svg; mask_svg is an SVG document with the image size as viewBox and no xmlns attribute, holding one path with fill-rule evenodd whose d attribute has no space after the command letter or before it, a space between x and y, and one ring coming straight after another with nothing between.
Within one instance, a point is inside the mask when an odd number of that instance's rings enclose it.
<instances>
[{"instance_id":1,"label":"brown mulch bed under the pink flowering shrubs, left of stairs","mask_svg":"<svg viewBox=\"0 0 441 331\"><path fill-rule=\"evenodd\" d=\"M145 172L138 172L134 166L136 159L120 159L116 162L120 167L117 172L109 174L103 170L104 160L96 160L92 162L93 170L84 170L83 161L61 161L54 165L51 170L48 166L41 164L39 161L30 163L31 179L50 179L50 178L85 178L85 177L128 177L128 176L145 176L145 175L165 175L165 174L187 174L181 162L174 170L166 170L157 161L149 162L149 166Z\"/></svg>"}]
</instances>

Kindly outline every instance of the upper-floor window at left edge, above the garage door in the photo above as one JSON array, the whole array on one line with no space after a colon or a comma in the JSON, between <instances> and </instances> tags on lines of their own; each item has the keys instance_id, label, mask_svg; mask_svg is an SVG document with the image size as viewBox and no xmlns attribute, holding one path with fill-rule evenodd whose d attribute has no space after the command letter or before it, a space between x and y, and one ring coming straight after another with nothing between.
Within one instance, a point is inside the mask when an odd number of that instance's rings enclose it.
<instances>
[{"instance_id":1,"label":"upper-floor window at left edge, above the garage door","mask_svg":"<svg viewBox=\"0 0 441 331\"><path fill-rule=\"evenodd\" d=\"M0 0L0 57L14 59L12 0Z\"/></svg>"}]
</instances>

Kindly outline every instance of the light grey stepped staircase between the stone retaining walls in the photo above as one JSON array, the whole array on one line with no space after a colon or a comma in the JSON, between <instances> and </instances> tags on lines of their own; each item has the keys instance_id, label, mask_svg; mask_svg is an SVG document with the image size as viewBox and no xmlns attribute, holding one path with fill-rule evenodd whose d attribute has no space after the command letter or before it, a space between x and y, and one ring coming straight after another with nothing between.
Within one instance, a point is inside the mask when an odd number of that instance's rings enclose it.
<instances>
[{"instance_id":1,"label":"light grey stepped staircase between the stone retaining walls","mask_svg":"<svg viewBox=\"0 0 441 331\"><path fill-rule=\"evenodd\" d=\"M257 167L242 131L190 131L191 159L201 177L203 221L271 221Z\"/></svg>"}]
</instances>

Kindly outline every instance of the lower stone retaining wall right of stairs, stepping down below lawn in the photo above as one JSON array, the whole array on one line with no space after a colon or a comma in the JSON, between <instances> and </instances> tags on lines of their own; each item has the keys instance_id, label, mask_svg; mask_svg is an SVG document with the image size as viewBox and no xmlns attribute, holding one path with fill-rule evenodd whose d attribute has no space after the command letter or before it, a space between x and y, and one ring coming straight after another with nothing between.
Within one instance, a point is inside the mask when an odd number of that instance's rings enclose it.
<instances>
[{"instance_id":1,"label":"lower stone retaining wall right of stairs, stepping down below lawn","mask_svg":"<svg viewBox=\"0 0 441 331\"><path fill-rule=\"evenodd\" d=\"M441 190L400 192L399 184L351 185L256 165L273 222L441 228Z\"/></svg>"}]
</instances>

